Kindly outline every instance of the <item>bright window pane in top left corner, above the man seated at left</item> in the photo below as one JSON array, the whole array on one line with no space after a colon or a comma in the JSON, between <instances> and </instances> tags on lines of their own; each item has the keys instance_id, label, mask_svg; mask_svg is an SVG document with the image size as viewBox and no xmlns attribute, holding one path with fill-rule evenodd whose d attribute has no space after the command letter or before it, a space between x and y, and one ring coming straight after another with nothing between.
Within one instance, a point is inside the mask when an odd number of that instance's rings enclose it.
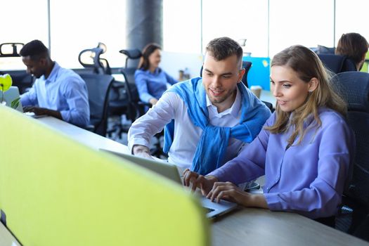
<instances>
[{"instance_id":1,"label":"bright window pane in top left corner, above the man seated at left","mask_svg":"<svg viewBox=\"0 0 369 246\"><path fill-rule=\"evenodd\" d=\"M32 11L30 11L32 10ZM37 14L36 12L37 11ZM47 1L1 1L0 44L39 39L48 44ZM4 51L8 52L8 51ZM20 58L0 58L0 70L24 70Z\"/></svg>"}]
</instances>

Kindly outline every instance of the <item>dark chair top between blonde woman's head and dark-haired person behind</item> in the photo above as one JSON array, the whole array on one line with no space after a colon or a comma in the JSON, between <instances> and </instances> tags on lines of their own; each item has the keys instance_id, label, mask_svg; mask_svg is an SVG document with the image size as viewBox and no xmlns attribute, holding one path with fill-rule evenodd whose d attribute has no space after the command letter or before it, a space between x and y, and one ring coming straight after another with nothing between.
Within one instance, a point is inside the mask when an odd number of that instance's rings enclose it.
<instances>
[{"instance_id":1,"label":"dark chair top between blonde woman's head and dark-haired person behind","mask_svg":"<svg viewBox=\"0 0 369 246\"><path fill-rule=\"evenodd\" d=\"M321 59L325 67L327 67L335 74L339 72L356 71L354 62L346 56L318 54L318 57Z\"/></svg>"}]
</instances>

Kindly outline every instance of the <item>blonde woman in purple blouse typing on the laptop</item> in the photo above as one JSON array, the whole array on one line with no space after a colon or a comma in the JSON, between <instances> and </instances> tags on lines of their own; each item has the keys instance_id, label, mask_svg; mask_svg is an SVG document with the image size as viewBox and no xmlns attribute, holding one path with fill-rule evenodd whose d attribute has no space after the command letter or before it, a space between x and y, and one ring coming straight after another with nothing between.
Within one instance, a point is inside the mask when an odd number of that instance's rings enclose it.
<instances>
[{"instance_id":1,"label":"blonde woman in purple blouse typing on the laptop","mask_svg":"<svg viewBox=\"0 0 369 246\"><path fill-rule=\"evenodd\" d=\"M276 112L248 148L224 166L207 176L186 169L185 185L201 188L215 201L332 218L355 143L344 119L346 105L330 88L329 79L309 48L291 46L276 54L271 63ZM263 194L236 186L263 175Z\"/></svg>"}]
</instances>

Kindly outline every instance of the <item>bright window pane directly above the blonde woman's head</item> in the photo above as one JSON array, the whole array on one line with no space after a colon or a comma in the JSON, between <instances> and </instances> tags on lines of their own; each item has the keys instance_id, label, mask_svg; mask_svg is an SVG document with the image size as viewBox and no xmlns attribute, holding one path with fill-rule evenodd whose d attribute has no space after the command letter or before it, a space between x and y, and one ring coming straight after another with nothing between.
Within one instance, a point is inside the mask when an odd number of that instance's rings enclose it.
<instances>
[{"instance_id":1,"label":"bright window pane directly above the blonde woman's head","mask_svg":"<svg viewBox=\"0 0 369 246\"><path fill-rule=\"evenodd\" d=\"M332 47L333 1L270 0L270 56L294 44Z\"/></svg>"}]
</instances>

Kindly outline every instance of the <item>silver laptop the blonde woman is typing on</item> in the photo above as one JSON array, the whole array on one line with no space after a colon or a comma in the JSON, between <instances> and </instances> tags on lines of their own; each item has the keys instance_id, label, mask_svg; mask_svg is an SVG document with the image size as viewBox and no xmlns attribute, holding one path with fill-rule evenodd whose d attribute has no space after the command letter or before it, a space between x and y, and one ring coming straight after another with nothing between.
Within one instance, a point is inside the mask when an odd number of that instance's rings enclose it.
<instances>
[{"instance_id":1,"label":"silver laptop the blonde woman is typing on","mask_svg":"<svg viewBox=\"0 0 369 246\"><path fill-rule=\"evenodd\" d=\"M157 174L165 176L167 179L171 179L176 183L179 183L183 186L183 182L181 176L179 175L179 171L174 164L170 164L164 161L156 161L145 159L143 157L137 157L135 155L129 155L124 153L118 153L112 150L100 149L108 153L112 153L113 155L117 155L118 157L122 157L124 160L129 160L130 162L134 162L134 164L138 164L141 167L145 167L146 169L150 169L151 171L155 171ZM238 205L234 202L228 202L226 200L221 200L219 203L212 202L204 196L200 196L200 202L202 207L207 209L207 218L214 218L217 216L221 216L222 214L226 214L231 210L235 209Z\"/></svg>"}]
</instances>

